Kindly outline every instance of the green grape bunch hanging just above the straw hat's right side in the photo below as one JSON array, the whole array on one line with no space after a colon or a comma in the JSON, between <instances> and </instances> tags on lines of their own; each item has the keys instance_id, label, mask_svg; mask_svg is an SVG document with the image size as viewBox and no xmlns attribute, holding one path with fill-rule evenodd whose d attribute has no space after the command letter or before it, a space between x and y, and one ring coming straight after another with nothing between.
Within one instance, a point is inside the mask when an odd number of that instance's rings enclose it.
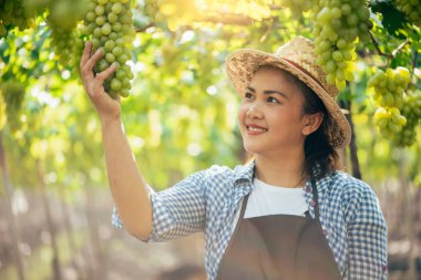
<instances>
[{"instance_id":1,"label":"green grape bunch hanging just above the straw hat's right side","mask_svg":"<svg viewBox=\"0 0 421 280\"><path fill-rule=\"evenodd\" d=\"M327 73L327 82L343 90L353 81L358 38L368 40L370 11L367 0L320 0L314 6L317 64Z\"/></svg>"}]
</instances>

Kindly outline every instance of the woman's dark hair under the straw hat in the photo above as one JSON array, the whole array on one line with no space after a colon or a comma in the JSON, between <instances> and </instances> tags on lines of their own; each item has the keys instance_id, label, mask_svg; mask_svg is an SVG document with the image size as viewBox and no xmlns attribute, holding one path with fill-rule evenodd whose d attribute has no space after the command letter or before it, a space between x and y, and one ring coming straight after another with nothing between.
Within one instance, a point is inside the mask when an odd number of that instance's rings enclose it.
<instances>
[{"instance_id":1,"label":"woman's dark hair under the straw hat","mask_svg":"<svg viewBox=\"0 0 421 280\"><path fill-rule=\"evenodd\" d=\"M273 65L263 65L260 68L271 68L281 71L288 81L301 90L305 100L302 114L316 114L318 112L324 114L319 128L308 135L304 142L305 163L301 174L302 178L314 180L325 177L328 173L336 169L338 154L329 143L328 124L330 120L324 102L307 84L289 72Z\"/></svg>"}]
</instances>

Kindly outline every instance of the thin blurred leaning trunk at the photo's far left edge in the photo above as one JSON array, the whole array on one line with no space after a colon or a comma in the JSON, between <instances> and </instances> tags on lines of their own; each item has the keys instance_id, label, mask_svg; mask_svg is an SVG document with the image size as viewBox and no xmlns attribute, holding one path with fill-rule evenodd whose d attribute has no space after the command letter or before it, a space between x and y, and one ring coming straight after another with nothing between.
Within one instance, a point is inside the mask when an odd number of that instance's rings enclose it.
<instances>
[{"instance_id":1,"label":"thin blurred leaning trunk at the photo's far left edge","mask_svg":"<svg viewBox=\"0 0 421 280\"><path fill-rule=\"evenodd\" d=\"M9 228L12 236L12 246L13 246L13 253L17 261L17 269L18 269L18 276L19 280L25 279L24 273L24 263L23 258L19 249L19 228L17 226L17 221L14 219L13 209L12 209L12 197L13 197L13 187L9 178L9 170L8 166L6 164L6 155L4 155L4 146L3 146L3 134L0 131L0 169L2 174L2 180L3 186L6 190L6 201L8 204L7 211L8 211L8 219L9 219Z\"/></svg>"}]
</instances>

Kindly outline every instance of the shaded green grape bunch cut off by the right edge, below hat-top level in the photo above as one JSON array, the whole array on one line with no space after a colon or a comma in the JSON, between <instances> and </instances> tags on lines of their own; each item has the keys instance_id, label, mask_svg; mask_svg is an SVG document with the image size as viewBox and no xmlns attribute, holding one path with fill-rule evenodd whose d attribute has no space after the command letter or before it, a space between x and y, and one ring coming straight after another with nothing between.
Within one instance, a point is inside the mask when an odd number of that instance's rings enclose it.
<instances>
[{"instance_id":1,"label":"shaded green grape bunch cut off by the right edge, below hat-top level","mask_svg":"<svg viewBox=\"0 0 421 280\"><path fill-rule=\"evenodd\" d=\"M407 118L407 124L401 132L392 136L392 142L397 146L410 146L417 139L415 127L421 120L421 91L409 91L403 97L401 107L402 115Z\"/></svg>"}]
</instances>

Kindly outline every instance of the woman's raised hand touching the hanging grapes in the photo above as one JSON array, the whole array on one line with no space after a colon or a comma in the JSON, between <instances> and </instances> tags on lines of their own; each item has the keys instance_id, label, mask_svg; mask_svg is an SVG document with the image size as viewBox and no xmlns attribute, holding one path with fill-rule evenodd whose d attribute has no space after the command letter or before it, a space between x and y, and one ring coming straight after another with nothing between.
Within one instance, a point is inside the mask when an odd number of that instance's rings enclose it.
<instances>
[{"instance_id":1,"label":"woman's raised hand touching the hanging grapes","mask_svg":"<svg viewBox=\"0 0 421 280\"><path fill-rule=\"evenodd\" d=\"M83 86L90 97L92 104L95 106L97 114L100 115L101 122L109 122L120 120L121 106L120 98L113 100L104 90L104 81L115 71L115 65L112 64L110 68L101 73L94 75L93 66L103 55L103 51L99 49L94 54L91 55L92 43L86 42L85 49L80 63L81 76Z\"/></svg>"}]
</instances>

